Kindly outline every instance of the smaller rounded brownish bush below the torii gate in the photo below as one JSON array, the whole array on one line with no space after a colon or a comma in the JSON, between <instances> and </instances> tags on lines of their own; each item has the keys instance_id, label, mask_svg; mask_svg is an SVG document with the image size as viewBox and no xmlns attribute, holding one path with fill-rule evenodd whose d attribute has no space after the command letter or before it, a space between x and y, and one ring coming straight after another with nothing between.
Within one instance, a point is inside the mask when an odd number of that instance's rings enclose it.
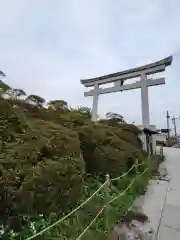
<instances>
[{"instance_id":1,"label":"smaller rounded brownish bush below the torii gate","mask_svg":"<svg viewBox=\"0 0 180 240\"><path fill-rule=\"evenodd\" d=\"M92 125L79 130L86 171L117 176L135 163L143 161L141 149L121 137L121 130L112 126ZM135 135L133 135L134 138Z\"/></svg>"}]
</instances>

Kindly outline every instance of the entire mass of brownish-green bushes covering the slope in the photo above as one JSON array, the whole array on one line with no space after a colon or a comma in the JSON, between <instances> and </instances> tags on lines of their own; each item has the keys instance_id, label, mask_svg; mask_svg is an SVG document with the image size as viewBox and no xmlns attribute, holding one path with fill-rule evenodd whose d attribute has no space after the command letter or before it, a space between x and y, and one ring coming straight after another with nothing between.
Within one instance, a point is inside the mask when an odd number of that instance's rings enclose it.
<instances>
[{"instance_id":1,"label":"entire mass of brownish-green bushes covering the slope","mask_svg":"<svg viewBox=\"0 0 180 240\"><path fill-rule=\"evenodd\" d=\"M3 88L0 98L0 225L2 238L31 221L70 211L95 186L145 159L139 130L118 119L91 121L88 108ZM9 99L4 99L7 93ZM95 185L90 186L95 181ZM93 183L94 184L94 183ZM89 187L88 187L89 185ZM86 191L85 191L86 186ZM54 216L54 215L53 215ZM54 219L54 218L52 218ZM51 219L51 220L52 220ZM36 221L35 221L36 222ZM17 238L19 239L19 238ZM23 237L21 236L21 239Z\"/></svg>"}]
</instances>

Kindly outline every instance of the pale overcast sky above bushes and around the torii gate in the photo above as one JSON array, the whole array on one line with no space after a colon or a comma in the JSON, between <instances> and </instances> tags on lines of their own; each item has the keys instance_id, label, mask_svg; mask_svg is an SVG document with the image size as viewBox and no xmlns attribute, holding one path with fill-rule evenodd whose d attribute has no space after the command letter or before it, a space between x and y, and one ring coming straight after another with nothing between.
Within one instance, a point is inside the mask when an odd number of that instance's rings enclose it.
<instances>
[{"instance_id":1,"label":"pale overcast sky above bushes and around the torii gate","mask_svg":"<svg viewBox=\"0 0 180 240\"><path fill-rule=\"evenodd\" d=\"M0 70L27 94L91 107L80 79L173 55L166 85L149 89L151 124L165 127L166 110L180 115L179 9L179 0L1 1ZM140 124L140 98L140 90L103 95L99 115Z\"/></svg>"}]
</instances>

